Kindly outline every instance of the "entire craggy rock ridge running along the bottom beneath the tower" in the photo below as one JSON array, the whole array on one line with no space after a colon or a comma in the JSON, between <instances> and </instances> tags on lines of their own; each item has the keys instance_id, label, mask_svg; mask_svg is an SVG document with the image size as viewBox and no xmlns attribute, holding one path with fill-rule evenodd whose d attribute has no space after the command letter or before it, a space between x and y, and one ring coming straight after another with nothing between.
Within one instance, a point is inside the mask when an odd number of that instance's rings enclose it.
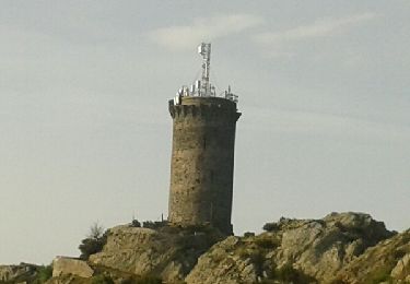
<instances>
[{"instance_id":1,"label":"entire craggy rock ridge running along the bottom beneath the tower","mask_svg":"<svg viewBox=\"0 0 410 284\"><path fill-rule=\"evenodd\" d=\"M209 227L117 226L87 261L56 259L48 283L410 283L410 230L389 232L367 214L263 228L225 238Z\"/></svg>"}]
</instances>

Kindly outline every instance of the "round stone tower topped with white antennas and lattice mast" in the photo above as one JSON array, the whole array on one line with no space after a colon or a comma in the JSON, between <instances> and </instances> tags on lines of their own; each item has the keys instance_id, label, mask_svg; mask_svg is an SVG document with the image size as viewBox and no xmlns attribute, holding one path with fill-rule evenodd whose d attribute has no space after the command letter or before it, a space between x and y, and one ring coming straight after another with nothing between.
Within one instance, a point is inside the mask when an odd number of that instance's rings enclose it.
<instances>
[{"instance_id":1,"label":"round stone tower topped with white antennas and lattice mast","mask_svg":"<svg viewBox=\"0 0 410 284\"><path fill-rule=\"evenodd\" d=\"M210 44L202 44L202 80L183 86L169 100L173 150L168 222L189 226L211 224L232 234L235 126L241 116L237 96L216 96L209 83Z\"/></svg>"}]
</instances>

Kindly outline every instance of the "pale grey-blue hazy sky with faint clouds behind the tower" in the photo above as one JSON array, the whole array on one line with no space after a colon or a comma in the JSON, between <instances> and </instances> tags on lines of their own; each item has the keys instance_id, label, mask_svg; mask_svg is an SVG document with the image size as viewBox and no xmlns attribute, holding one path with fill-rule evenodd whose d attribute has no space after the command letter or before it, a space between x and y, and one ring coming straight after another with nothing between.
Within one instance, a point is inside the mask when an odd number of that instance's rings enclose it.
<instances>
[{"instance_id":1,"label":"pale grey-blue hazy sky with faint clouds behind the tower","mask_svg":"<svg viewBox=\"0 0 410 284\"><path fill-rule=\"evenodd\" d=\"M239 96L233 224L366 212L410 227L410 1L0 1L0 263L167 215L167 100Z\"/></svg>"}]
</instances>

